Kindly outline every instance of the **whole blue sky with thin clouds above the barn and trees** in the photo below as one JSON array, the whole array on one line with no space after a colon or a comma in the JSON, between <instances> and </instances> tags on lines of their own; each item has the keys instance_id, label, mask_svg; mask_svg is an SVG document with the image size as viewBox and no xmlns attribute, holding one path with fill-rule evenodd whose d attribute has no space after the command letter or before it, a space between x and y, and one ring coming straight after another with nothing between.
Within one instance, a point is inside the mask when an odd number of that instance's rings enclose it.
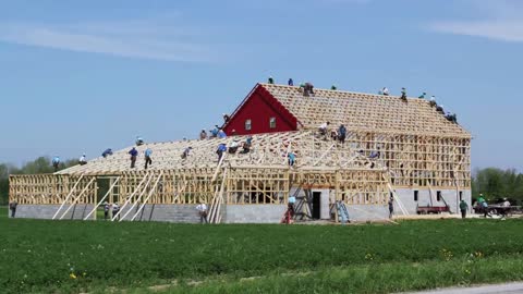
<instances>
[{"instance_id":1,"label":"whole blue sky with thin clouds above the barn and trees","mask_svg":"<svg viewBox=\"0 0 523 294\"><path fill-rule=\"evenodd\" d=\"M0 0L0 162L195 137L257 82L436 95L523 170L523 3Z\"/></svg>"}]
</instances>

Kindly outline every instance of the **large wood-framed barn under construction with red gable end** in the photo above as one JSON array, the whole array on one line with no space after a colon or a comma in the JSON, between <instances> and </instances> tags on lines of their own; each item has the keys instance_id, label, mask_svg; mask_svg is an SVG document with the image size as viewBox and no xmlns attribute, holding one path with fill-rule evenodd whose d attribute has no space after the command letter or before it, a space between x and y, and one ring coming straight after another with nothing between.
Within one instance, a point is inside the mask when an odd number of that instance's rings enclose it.
<instances>
[{"instance_id":1,"label":"large wood-framed barn under construction with red gable end","mask_svg":"<svg viewBox=\"0 0 523 294\"><path fill-rule=\"evenodd\" d=\"M344 143L319 134L325 122L346 127ZM290 196L303 220L338 220L340 204L351 220L387 219L390 197L399 215L471 204L471 135L425 99L326 89L305 97L300 87L257 84L223 130L227 138L138 146L134 169L130 147L53 174L11 175L10 201L20 218L92 220L108 201L121 207L113 220L172 222L198 222L203 201L214 223L279 222ZM248 150L218 158L219 144L247 137Z\"/></svg>"}]
</instances>

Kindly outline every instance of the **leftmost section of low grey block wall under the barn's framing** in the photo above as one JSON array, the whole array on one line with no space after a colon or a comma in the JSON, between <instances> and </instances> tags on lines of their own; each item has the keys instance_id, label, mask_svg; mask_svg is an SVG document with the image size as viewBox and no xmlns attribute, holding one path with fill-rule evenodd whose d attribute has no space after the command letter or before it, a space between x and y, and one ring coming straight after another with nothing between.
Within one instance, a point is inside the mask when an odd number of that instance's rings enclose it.
<instances>
[{"instance_id":1,"label":"leftmost section of low grey block wall under the barn's framing","mask_svg":"<svg viewBox=\"0 0 523 294\"><path fill-rule=\"evenodd\" d=\"M94 207L94 205L75 205L68 211L63 219L84 219ZM52 216L54 216L59 208L60 205L19 205L14 217L24 219L52 219ZM63 206L57 219L60 218L68 206ZM9 211L9 217L11 217L11 210Z\"/></svg>"}]
</instances>

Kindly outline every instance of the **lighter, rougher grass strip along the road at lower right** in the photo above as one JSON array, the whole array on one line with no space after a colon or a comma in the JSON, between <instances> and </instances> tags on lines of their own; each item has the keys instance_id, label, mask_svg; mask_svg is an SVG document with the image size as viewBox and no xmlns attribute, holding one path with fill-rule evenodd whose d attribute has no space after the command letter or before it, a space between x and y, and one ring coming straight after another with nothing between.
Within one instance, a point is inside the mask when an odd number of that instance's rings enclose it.
<instances>
[{"instance_id":1,"label":"lighter, rougher grass strip along the road at lower right","mask_svg":"<svg viewBox=\"0 0 523 294\"><path fill-rule=\"evenodd\" d=\"M375 264L257 279L221 279L198 285L139 289L138 293L394 293L523 280L522 256L467 257L423 264Z\"/></svg>"}]
</instances>

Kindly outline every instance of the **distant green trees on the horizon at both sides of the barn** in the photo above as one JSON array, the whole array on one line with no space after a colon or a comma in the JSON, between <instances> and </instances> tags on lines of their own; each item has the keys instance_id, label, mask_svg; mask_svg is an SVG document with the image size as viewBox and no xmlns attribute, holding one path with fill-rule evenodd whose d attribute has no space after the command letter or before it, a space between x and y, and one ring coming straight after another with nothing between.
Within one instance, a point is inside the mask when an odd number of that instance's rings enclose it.
<instances>
[{"instance_id":1,"label":"distant green trees on the horizon at both sides of the barn","mask_svg":"<svg viewBox=\"0 0 523 294\"><path fill-rule=\"evenodd\" d=\"M77 164L76 159L69 159L60 163L60 170ZM10 174L52 173L54 169L49 157L39 157L17 168L9 163L0 163L0 205L5 205L9 198ZM501 170L497 168L476 169L472 173L472 197L483 194L492 203L498 198L510 198L523 201L523 173L514 169Z\"/></svg>"}]
</instances>

